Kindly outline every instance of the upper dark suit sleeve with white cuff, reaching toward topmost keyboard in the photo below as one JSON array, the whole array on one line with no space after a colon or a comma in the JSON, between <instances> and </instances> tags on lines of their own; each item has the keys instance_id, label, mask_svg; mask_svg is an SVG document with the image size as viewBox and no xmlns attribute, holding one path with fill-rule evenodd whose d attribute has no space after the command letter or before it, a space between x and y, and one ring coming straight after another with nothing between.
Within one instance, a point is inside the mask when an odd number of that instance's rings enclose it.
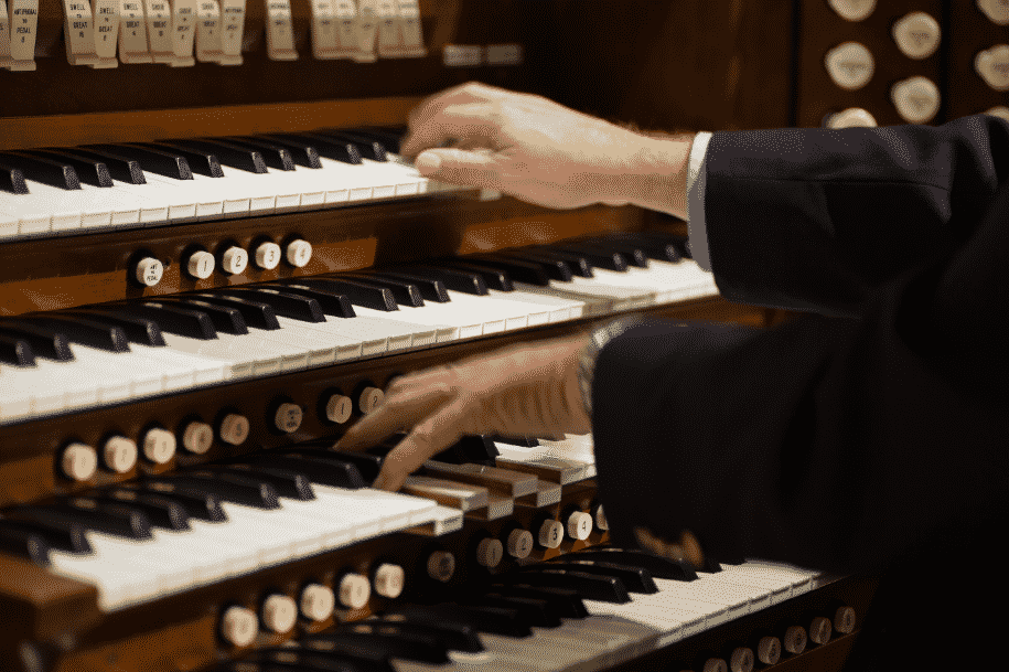
<instances>
[{"instance_id":1,"label":"upper dark suit sleeve with white cuff, reaching toward topmost keyboard","mask_svg":"<svg viewBox=\"0 0 1009 672\"><path fill-rule=\"evenodd\" d=\"M1009 124L716 132L705 220L723 296L856 314L959 248L1009 177Z\"/></svg>"}]
</instances>

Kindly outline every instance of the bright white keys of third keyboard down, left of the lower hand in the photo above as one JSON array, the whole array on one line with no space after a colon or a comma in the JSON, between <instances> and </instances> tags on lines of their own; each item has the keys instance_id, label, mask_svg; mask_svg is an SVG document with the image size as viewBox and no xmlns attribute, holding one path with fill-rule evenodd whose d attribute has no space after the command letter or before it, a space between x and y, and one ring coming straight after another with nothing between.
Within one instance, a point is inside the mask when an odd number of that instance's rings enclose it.
<instances>
[{"instance_id":1,"label":"bright white keys of third keyboard down, left of the lower hand","mask_svg":"<svg viewBox=\"0 0 1009 672\"><path fill-rule=\"evenodd\" d=\"M222 502L228 520L190 520L187 531L153 529L151 540L88 532L93 553L55 551L53 570L94 584L115 610L428 522L436 504L380 491L313 486L314 500L279 509Z\"/></svg>"}]
</instances>

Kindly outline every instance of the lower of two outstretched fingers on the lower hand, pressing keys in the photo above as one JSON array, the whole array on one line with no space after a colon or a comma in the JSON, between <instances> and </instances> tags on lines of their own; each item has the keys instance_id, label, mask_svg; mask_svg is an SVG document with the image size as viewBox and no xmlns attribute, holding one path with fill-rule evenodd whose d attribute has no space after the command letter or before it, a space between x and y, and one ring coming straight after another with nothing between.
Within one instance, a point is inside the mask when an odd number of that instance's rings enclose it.
<instances>
[{"instance_id":1,"label":"lower of two outstretched fingers on the lower hand, pressing keys","mask_svg":"<svg viewBox=\"0 0 1009 672\"><path fill-rule=\"evenodd\" d=\"M457 399L415 427L386 455L376 483L383 490L399 490L410 473L462 438L466 431L465 415L465 403Z\"/></svg>"}]
</instances>

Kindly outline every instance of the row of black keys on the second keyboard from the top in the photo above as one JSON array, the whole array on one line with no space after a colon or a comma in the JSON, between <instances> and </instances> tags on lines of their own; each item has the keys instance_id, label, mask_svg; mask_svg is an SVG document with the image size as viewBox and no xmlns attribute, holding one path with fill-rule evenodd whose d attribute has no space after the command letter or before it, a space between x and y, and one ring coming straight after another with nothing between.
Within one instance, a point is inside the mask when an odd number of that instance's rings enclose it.
<instances>
[{"instance_id":1,"label":"row of black keys on the second keyboard from the top","mask_svg":"<svg viewBox=\"0 0 1009 672\"><path fill-rule=\"evenodd\" d=\"M364 273L322 275L172 295L157 300L85 306L0 321L0 362L34 365L35 356L71 361L68 342L128 352L129 341L164 345L162 331L195 339L217 331L246 334L248 327L277 330L277 316L305 322L326 314L354 317L353 306L383 311L399 305L449 302L448 289L483 296L487 288L512 291L513 280L547 286L592 268L626 270L648 258L679 260L686 241L658 232L568 241L549 246L438 259L427 264Z\"/></svg>"}]
</instances>

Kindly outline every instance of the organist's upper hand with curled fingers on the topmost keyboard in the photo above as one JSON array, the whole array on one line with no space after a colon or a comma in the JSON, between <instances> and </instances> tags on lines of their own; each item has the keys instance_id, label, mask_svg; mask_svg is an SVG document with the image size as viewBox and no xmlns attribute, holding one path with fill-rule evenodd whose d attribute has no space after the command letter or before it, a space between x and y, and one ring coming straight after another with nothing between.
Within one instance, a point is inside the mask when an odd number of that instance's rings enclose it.
<instances>
[{"instance_id":1,"label":"organist's upper hand with curled fingers on the topmost keyboard","mask_svg":"<svg viewBox=\"0 0 1009 672\"><path fill-rule=\"evenodd\" d=\"M431 96L410 113L409 125L401 153L421 174L558 209L648 206L645 175L657 174L654 159L669 149L540 96L477 83Z\"/></svg>"}]
</instances>

